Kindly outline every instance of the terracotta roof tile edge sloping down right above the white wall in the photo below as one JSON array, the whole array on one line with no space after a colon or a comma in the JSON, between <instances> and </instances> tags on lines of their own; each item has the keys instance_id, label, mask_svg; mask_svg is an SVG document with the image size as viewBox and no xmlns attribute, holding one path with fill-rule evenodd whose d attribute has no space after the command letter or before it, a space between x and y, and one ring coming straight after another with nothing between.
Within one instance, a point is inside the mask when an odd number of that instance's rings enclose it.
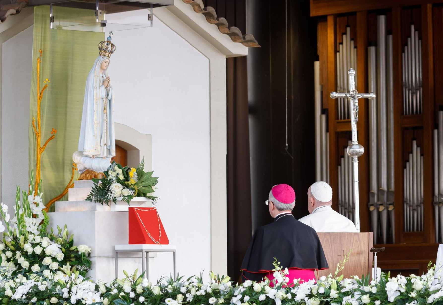
<instances>
[{"instance_id":1,"label":"terracotta roof tile edge sloping down right above the white wall","mask_svg":"<svg viewBox=\"0 0 443 305\"><path fill-rule=\"evenodd\" d=\"M206 21L215 24L218 27L218 31L222 34L228 35L233 42L239 42L247 47L260 47L257 40L252 34L242 35L238 27L229 27L228 21L225 18L217 18L217 13L214 8L208 6L204 7L202 0L182 0L184 3L189 4L194 9L194 12L203 14L206 17Z\"/></svg>"}]
</instances>

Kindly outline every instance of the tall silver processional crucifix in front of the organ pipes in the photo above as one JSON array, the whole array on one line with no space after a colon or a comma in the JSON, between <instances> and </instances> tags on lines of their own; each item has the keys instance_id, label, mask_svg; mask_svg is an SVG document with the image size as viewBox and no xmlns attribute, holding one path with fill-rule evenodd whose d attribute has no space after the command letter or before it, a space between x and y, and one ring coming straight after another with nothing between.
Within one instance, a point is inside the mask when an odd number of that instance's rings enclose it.
<instances>
[{"instance_id":1,"label":"tall silver processional crucifix in front of the organ pipes","mask_svg":"<svg viewBox=\"0 0 443 305\"><path fill-rule=\"evenodd\" d=\"M357 141L357 121L358 121L358 99L367 98L372 100L375 98L374 93L358 93L355 90L355 70L349 69L349 93L337 93L331 92L331 99L336 98L348 98L350 102L351 109L351 131L352 131L352 143L348 148L346 148L346 153L348 156L352 157L352 162L354 164L354 202L355 202L355 226L357 227L357 232L360 232L360 203L358 200L358 157L360 157L365 149Z\"/></svg>"}]
</instances>

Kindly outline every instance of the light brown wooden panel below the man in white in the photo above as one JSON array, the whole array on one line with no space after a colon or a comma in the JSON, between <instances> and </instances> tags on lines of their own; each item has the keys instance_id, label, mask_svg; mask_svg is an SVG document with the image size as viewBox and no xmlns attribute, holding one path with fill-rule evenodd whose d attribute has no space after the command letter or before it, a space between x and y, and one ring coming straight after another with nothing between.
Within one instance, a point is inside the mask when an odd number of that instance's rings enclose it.
<instances>
[{"instance_id":1,"label":"light brown wooden panel below the man in white","mask_svg":"<svg viewBox=\"0 0 443 305\"><path fill-rule=\"evenodd\" d=\"M344 259L344 256L351 250L350 258L344 269L338 274L343 274L344 278L353 275L372 273L372 253L373 233L317 233L326 255L329 269L319 270L319 278L332 273L334 275L337 264Z\"/></svg>"}]
</instances>

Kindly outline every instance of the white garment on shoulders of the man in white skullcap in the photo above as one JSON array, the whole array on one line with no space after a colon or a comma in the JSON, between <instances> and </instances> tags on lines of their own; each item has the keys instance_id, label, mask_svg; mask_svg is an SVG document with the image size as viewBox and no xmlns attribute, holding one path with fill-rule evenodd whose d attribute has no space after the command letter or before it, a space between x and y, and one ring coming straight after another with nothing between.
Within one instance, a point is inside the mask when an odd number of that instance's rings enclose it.
<instances>
[{"instance_id":1,"label":"white garment on shoulders of the man in white skullcap","mask_svg":"<svg viewBox=\"0 0 443 305\"><path fill-rule=\"evenodd\" d=\"M335 212L329 205L315 208L299 221L313 228L315 232L357 232L351 220Z\"/></svg>"}]
</instances>

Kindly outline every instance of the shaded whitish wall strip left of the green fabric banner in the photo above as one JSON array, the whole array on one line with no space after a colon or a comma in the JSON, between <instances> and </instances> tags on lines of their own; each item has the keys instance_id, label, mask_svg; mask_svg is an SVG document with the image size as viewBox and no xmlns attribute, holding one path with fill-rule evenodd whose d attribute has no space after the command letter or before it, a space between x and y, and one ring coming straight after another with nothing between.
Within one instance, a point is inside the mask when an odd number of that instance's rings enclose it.
<instances>
[{"instance_id":1,"label":"shaded whitish wall strip left of the green fabric banner","mask_svg":"<svg viewBox=\"0 0 443 305\"><path fill-rule=\"evenodd\" d=\"M2 201L15 203L16 185L28 183L28 124L33 26L2 44L1 183Z\"/></svg>"}]
</instances>

